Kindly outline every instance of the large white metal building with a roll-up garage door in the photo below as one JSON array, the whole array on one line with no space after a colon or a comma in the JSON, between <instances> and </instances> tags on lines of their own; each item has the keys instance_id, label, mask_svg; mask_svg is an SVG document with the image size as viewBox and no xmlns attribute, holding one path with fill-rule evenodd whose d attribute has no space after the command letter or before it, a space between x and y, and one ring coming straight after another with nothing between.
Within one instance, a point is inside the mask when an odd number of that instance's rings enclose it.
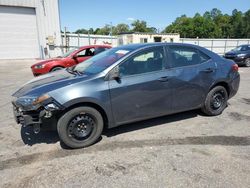
<instances>
[{"instance_id":1,"label":"large white metal building with a roll-up garage door","mask_svg":"<svg viewBox=\"0 0 250 188\"><path fill-rule=\"evenodd\" d=\"M0 0L0 59L61 53L58 0Z\"/></svg>"}]
</instances>

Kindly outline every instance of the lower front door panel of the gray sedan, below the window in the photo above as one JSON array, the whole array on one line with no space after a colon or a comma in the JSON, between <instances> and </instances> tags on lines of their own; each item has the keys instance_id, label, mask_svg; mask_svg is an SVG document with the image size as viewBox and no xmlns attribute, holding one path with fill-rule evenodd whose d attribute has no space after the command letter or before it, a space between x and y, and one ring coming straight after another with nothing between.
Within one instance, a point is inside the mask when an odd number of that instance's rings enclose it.
<instances>
[{"instance_id":1,"label":"lower front door panel of the gray sedan, below the window","mask_svg":"<svg viewBox=\"0 0 250 188\"><path fill-rule=\"evenodd\" d=\"M117 124L171 113L172 90L166 71L109 81L111 104Z\"/></svg>"}]
</instances>

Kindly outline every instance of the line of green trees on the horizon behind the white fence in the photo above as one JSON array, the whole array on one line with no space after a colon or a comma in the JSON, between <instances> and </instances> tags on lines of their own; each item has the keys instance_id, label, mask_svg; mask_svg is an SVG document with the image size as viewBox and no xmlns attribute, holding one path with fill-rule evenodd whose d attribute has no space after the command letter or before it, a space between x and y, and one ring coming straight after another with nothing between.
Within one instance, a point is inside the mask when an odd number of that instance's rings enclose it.
<instances>
[{"instance_id":1,"label":"line of green trees on the horizon behind the white fence","mask_svg":"<svg viewBox=\"0 0 250 188\"><path fill-rule=\"evenodd\" d=\"M120 23L112 26L112 34L122 32L150 32L157 33L155 27L147 26L144 20L135 20L132 29L127 24ZM78 29L75 33L109 35L110 25L102 28ZM194 17L182 15L168 25L162 33L180 33L184 38L250 38L250 10L245 13L233 10L232 15L223 14L219 9L206 11L203 15L196 13Z\"/></svg>"}]
</instances>

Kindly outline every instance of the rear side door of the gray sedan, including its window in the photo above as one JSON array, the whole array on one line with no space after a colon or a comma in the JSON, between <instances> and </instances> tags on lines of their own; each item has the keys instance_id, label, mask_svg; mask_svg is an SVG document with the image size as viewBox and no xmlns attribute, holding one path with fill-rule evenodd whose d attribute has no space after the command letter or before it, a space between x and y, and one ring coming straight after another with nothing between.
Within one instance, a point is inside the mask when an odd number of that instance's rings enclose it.
<instances>
[{"instance_id":1,"label":"rear side door of the gray sedan, including its window","mask_svg":"<svg viewBox=\"0 0 250 188\"><path fill-rule=\"evenodd\" d=\"M168 47L172 67L173 108L185 111L201 107L206 97L205 83L211 80L213 64L206 54L189 46Z\"/></svg>"}]
</instances>

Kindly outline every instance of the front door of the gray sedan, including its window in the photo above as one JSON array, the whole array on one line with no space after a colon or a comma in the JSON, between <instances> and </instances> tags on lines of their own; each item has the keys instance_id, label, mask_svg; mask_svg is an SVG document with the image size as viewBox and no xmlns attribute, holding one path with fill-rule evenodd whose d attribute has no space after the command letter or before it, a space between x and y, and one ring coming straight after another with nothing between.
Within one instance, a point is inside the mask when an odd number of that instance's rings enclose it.
<instances>
[{"instance_id":1,"label":"front door of the gray sedan, including its window","mask_svg":"<svg viewBox=\"0 0 250 188\"><path fill-rule=\"evenodd\" d=\"M164 48L151 47L128 58L119 67L120 80L110 80L110 95L117 124L147 119L171 111Z\"/></svg>"}]
</instances>

